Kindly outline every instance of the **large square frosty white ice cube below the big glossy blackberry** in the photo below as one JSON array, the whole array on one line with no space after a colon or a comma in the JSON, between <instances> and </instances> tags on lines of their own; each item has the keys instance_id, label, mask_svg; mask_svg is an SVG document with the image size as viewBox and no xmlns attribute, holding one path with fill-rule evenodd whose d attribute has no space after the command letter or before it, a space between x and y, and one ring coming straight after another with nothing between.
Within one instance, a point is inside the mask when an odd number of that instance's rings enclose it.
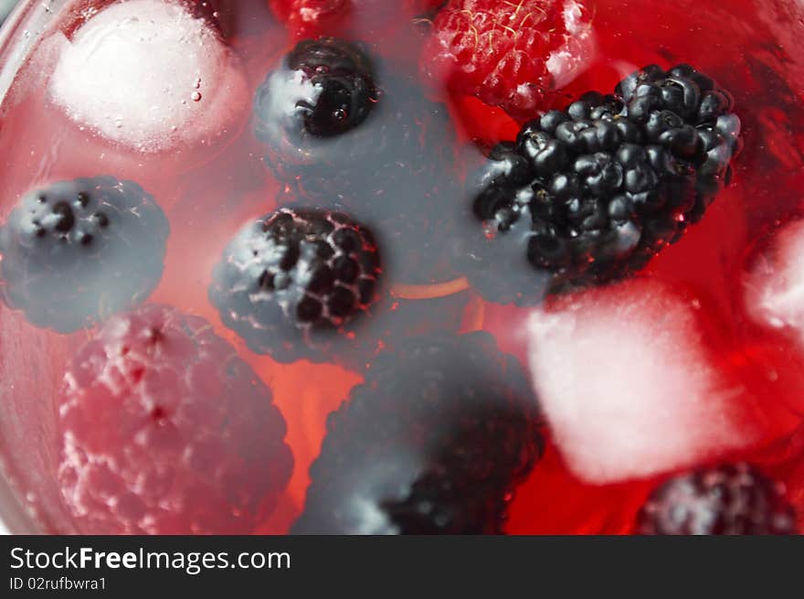
<instances>
[{"instance_id":1,"label":"large square frosty white ice cube below the big glossy blackberry","mask_svg":"<svg viewBox=\"0 0 804 599\"><path fill-rule=\"evenodd\" d=\"M651 476L756 440L746 390L714 367L697 305L638 280L530 316L535 390L577 476Z\"/></svg>"}]
</instances>

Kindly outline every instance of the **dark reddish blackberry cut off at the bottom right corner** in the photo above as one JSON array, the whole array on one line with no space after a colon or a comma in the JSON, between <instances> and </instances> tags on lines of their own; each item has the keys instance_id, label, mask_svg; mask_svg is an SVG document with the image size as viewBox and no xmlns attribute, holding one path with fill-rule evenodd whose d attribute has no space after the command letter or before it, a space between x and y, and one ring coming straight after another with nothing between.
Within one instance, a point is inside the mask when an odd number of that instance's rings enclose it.
<instances>
[{"instance_id":1,"label":"dark reddish blackberry cut off at the bottom right corner","mask_svg":"<svg viewBox=\"0 0 804 599\"><path fill-rule=\"evenodd\" d=\"M751 465L720 465L676 476L640 510L649 535L796 534L782 487Z\"/></svg>"}]
</instances>

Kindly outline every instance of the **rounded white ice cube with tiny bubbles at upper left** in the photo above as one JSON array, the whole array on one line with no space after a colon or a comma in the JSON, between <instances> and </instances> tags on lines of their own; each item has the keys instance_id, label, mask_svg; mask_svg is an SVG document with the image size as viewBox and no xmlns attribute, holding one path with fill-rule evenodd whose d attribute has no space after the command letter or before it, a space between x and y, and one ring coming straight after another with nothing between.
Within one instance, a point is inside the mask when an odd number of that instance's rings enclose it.
<instances>
[{"instance_id":1,"label":"rounded white ice cube with tiny bubbles at upper left","mask_svg":"<svg viewBox=\"0 0 804 599\"><path fill-rule=\"evenodd\" d=\"M66 44L49 91L79 125L147 152L223 134L246 103L229 48L168 0L91 16Z\"/></svg>"}]
</instances>

